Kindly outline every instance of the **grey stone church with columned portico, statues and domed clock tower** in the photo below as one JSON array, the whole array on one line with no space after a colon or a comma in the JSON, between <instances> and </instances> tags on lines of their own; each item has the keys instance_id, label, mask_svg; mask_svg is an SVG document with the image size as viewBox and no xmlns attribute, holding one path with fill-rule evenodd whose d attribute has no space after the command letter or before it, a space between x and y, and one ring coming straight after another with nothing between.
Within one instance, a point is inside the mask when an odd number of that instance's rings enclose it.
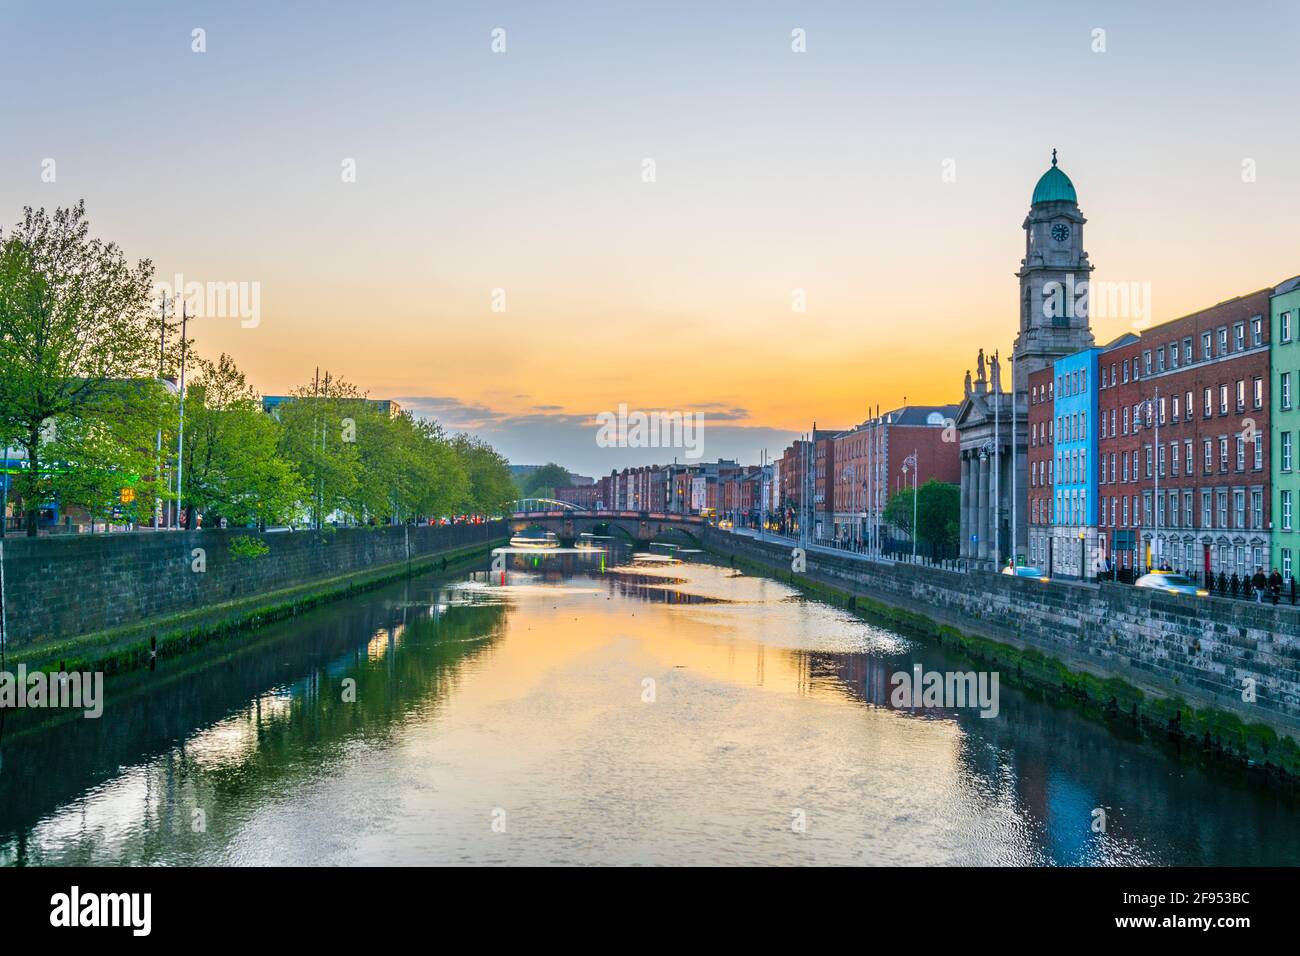
<instances>
[{"instance_id":1,"label":"grey stone church with columned portico, statues and domed clock tower","mask_svg":"<svg viewBox=\"0 0 1300 956\"><path fill-rule=\"evenodd\" d=\"M1026 555L1030 537L1030 376L1093 346L1087 287L1092 264L1083 248L1087 220L1070 177L1052 165L1039 178L1024 219L1024 259L1015 273L1019 332L1009 381L997 351L966 373L957 412L961 441L961 555L997 570Z\"/></svg>"}]
</instances>

